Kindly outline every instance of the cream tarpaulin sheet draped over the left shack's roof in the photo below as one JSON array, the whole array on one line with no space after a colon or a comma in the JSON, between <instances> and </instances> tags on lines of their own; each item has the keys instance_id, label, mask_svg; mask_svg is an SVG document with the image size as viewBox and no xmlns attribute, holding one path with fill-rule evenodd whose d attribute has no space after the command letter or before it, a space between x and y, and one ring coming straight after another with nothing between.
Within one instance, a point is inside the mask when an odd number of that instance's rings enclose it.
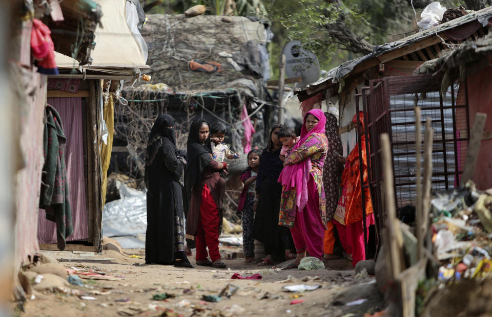
<instances>
[{"instance_id":1,"label":"cream tarpaulin sheet draped over the left shack's roof","mask_svg":"<svg viewBox=\"0 0 492 317\"><path fill-rule=\"evenodd\" d=\"M96 46L92 52L92 65L88 69L139 68L148 69L144 54L133 37L126 21L126 0L93 0L101 6L103 16L96 29ZM55 52L58 68L78 68L78 61Z\"/></svg>"}]
</instances>

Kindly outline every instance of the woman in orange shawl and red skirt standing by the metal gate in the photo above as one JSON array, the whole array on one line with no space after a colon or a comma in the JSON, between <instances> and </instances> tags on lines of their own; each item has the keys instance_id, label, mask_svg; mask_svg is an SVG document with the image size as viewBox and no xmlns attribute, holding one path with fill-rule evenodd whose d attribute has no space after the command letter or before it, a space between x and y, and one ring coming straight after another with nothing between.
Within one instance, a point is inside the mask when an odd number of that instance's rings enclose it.
<instances>
[{"instance_id":1,"label":"woman in orange shawl and red skirt standing by the metal gate","mask_svg":"<svg viewBox=\"0 0 492 317\"><path fill-rule=\"evenodd\" d=\"M355 114L352 122L357 123L357 116L364 130L362 112ZM361 131L361 132L362 132ZM342 196L333 216L342 246L349 260L355 265L365 260L364 227L362 219L362 191L360 182L359 146L362 152L362 170L364 184L367 184L367 153L365 151L365 135L361 133L360 144L356 144L347 157L340 157L340 163L345 164L342 174ZM369 235L369 225L374 224L373 204L369 188L364 188L366 231Z\"/></svg>"}]
</instances>

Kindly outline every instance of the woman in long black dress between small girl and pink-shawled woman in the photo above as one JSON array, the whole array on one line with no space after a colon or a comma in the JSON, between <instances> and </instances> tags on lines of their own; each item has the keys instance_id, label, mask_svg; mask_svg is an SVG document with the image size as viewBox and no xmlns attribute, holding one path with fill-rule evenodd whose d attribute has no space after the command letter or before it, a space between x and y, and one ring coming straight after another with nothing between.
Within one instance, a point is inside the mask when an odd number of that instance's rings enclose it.
<instances>
[{"instance_id":1,"label":"woman in long black dress between small girl and pink-shawled woman","mask_svg":"<svg viewBox=\"0 0 492 317\"><path fill-rule=\"evenodd\" d=\"M290 255L292 237L289 229L278 224L280 211L280 195L282 185L277 182L283 168L280 160L282 143L278 138L278 131L283 124L276 124L270 130L270 139L267 148L260 156L260 167L256 177L256 199L253 207L256 211L253 224L253 236L263 243L265 258L258 265L272 265L272 255L276 251L284 250ZM295 256L294 256L295 257Z\"/></svg>"}]
</instances>

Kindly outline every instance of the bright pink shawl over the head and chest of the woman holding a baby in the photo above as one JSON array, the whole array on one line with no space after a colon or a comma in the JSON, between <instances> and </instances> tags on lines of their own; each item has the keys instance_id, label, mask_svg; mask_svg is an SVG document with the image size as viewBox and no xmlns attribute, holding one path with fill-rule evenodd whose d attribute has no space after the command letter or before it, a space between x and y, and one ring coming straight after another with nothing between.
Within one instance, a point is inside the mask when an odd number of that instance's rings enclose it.
<instances>
[{"instance_id":1,"label":"bright pink shawl over the head and chest of the woman holding a baby","mask_svg":"<svg viewBox=\"0 0 492 317\"><path fill-rule=\"evenodd\" d=\"M311 131L309 132L306 129L306 124L305 124L308 115L313 115L319 120L318 124L316 124L316 126L312 128ZM292 147L292 151L297 150L301 145L303 145L306 142L306 140L310 137L310 135L314 133L324 134L325 125L326 125L326 117L324 116L324 112L321 109L313 109L309 111L304 116L304 124L302 125L300 139L296 144L294 144L294 146ZM312 141L314 145L315 140ZM281 183L282 185L285 185L286 186L285 189L288 190L290 188L294 188L294 187L296 188L296 193L297 193L296 205L299 210L303 210L304 206L306 206L306 203L308 202L308 180L310 176L309 173L310 170L311 170L311 157L308 157L307 159L305 159L304 161L298 164L286 165L282 169L282 172L278 177L278 182Z\"/></svg>"}]
</instances>

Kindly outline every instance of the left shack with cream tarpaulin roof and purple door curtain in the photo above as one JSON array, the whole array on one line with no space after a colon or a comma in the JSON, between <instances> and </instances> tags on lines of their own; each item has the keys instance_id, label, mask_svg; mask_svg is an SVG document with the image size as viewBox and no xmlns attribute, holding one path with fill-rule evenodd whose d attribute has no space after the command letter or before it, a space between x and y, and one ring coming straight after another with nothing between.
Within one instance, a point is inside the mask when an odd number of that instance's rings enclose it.
<instances>
[{"instance_id":1,"label":"left shack with cream tarpaulin roof and purple door curtain","mask_svg":"<svg viewBox=\"0 0 492 317\"><path fill-rule=\"evenodd\" d=\"M51 16L40 11L46 5ZM25 1L25 8L26 16L31 16L29 8L36 8L36 16L42 16L50 26L55 51L70 56L55 52L57 70L52 70L53 75L37 73L31 60L33 22L30 18L19 21L22 28L13 43L18 52L13 60L18 62L12 73L19 79L14 91L20 107L18 143L22 152L17 161L24 164L17 166L15 182L15 265L28 257L32 260L39 246L57 250L52 244L57 242L56 225L46 220L44 210L38 211L45 105L57 109L67 139L65 159L74 228L67 241L77 244L68 244L65 250L100 250L104 176L112 141L113 105L108 82L136 81L150 69L145 63L145 48L137 42L139 34L133 34L127 25L127 14L134 12L125 0L50 1L44 6ZM83 35L77 37L72 32L71 17L84 28ZM67 53L67 48L72 51Z\"/></svg>"}]
</instances>

